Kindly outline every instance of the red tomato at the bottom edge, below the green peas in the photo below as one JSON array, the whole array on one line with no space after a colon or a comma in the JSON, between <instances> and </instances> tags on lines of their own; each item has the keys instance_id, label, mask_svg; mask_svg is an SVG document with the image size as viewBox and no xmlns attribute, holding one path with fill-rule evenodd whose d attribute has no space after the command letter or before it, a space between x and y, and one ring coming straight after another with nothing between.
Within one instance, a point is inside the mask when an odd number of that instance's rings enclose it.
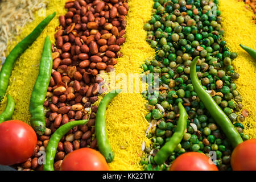
<instances>
[{"instance_id":1,"label":"red tomato at the bottom edge, below the green peas","mask_svg":"<svg viewBox=\"0 0 256 182\"><path fill-rule=\"evenodd\" d=\"M170 171L218 171L209 158L200 152L186 152L174 160Z\"/></svg>"}]
</instances>

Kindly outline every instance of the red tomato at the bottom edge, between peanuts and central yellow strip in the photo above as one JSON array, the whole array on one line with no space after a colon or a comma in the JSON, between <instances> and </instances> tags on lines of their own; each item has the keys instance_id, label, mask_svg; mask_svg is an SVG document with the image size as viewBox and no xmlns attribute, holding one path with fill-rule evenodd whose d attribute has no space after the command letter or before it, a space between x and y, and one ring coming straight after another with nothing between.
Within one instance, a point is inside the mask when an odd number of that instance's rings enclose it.
<instances>
[{"instance_id":1,"label":"red tomato at the bottom edge, between peanuts and central yellow strip","mask_svg":"<svg viewBox=\"0 0 256 182\"><path fill-rule=\"evenodd\" d=\"M109 166L100 152L80 148L65 156L61 171L109 171Z\"/></svg>"}]
</instances>

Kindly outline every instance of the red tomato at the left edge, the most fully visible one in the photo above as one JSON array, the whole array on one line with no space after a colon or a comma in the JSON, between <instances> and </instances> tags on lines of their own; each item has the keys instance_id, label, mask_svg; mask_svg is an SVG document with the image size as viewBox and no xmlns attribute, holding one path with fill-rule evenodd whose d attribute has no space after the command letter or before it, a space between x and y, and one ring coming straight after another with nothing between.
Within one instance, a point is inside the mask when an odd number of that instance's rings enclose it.
<instances>
[{"instance_id":1,"label":"red tomato at the left edge, the most fully visible one","mask_svg":"<svg viewBox=\"0 0 256 182\"><path fill-rule=\"evenodd\" d=\"M26 161L33 154L37 142L35 131L22 121L0 124L0 164L13 165Z\"/></svg>"}]
</instances>

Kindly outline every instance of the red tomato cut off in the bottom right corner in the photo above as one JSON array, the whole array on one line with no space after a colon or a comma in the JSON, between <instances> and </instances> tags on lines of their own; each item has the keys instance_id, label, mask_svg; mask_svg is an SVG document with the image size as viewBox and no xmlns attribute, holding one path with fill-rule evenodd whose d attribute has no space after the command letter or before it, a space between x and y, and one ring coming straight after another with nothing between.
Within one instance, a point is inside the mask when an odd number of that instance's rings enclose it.
<instances>
[{"instance_id":1,"label":"red tomato cut off in the bottom right corner","mask_svg":"<svg viewBox=\"0 0 256 182\"><path fill-rule=\"evenodd\" d=\"M234 171L256 171L256 139L246 140L234 148L231 166Z\"/></svg>"}]
</instances>

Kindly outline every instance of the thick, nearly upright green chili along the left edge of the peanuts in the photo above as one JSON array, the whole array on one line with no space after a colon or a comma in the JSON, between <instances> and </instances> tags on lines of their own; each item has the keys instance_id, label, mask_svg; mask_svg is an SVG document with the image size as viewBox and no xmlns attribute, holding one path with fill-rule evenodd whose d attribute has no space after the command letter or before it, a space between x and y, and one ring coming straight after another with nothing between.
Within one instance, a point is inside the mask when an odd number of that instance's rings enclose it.
<instances>
[{"instance_id":1,"label":"thick, nearly upright green chili along the left edge of the peanuts","mask_svg":"<svg viewBox=\"0 0 256 182\"><path fill-rule=\"evenodd\" d=\"M43 135L46 130L46 122L44 121L44 99L51 79L52 73L52 51L51 40L46 37L43 53L40 61L39 74L36 78L34 89L30 98L30 114L31 126L37 134Z\"/></svg>"}]
</instances>

